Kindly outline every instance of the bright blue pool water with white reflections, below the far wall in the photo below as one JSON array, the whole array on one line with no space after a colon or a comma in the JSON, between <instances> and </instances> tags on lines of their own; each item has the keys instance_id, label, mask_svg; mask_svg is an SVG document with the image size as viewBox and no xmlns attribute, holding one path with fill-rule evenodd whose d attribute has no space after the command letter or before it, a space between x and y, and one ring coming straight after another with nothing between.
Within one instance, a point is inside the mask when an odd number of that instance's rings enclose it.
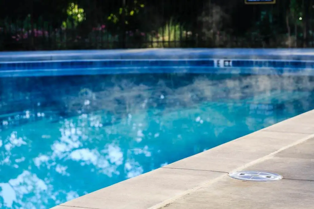
<instances>
[{"instance_id":1,"label":"bright blue pool water with white reflections, below the far wall","mask_svg":"<svg viewBox=\"0 0 314 209\"><path fill-rule=\"evenodd\" d=\"M50 208L311 110L313 80L1 78L0 207Z\"/></svg>"}]
</instances>

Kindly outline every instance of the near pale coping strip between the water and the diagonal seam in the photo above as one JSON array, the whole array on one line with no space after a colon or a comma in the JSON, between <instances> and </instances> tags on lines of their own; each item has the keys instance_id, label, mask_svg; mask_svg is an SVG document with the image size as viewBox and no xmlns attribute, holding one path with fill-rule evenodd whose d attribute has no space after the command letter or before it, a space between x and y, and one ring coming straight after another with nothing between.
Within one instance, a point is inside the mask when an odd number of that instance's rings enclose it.
<instances>
[{"instance_id":1,"label":"near pale coping strip between the water and the diagonal seam","mask_svg":"<svg viewBox=\"0 0 314 209\"><path fill-rule=\"evenodd\" d=\"M275 154L313 137L314 110L162 168L62 203L53 209L159 209L172 206L174 202L182 202L186 196L202 192L203 188L225 180L230 172L246 170L258 165L271 159ZM298 161L298 158L295 160ZM278 168L278 171L280 169ZM271 170L267 171L272 172ZM227 185L228 187L230 185ZM224 195L224 192L221 195ZM197 199L195 198L193 201L204 201ZM221 201L224 200L221 199ZM185 206L187 207L187 205ZM173 208L182 208L182 206L173 206Z\"/></svg>"}]
</instances>

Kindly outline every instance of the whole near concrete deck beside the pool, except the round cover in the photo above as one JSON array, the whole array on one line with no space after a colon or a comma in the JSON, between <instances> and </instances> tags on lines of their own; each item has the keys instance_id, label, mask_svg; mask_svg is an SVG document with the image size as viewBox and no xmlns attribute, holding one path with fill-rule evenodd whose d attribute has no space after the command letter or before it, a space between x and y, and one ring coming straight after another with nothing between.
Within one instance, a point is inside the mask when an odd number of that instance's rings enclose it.
<instances>
[{"instance_id":1,"label":"whole near concrete deck beside the pool, except the round cover","mask_svg":"<svg viewBox=\"0 0 314 209\"><path fill-rule=\"evenodd\" d=\"M53 209L314 208L314 110ZM278 173L271 182L229 172Z\"/></svg>"}]
</instances>

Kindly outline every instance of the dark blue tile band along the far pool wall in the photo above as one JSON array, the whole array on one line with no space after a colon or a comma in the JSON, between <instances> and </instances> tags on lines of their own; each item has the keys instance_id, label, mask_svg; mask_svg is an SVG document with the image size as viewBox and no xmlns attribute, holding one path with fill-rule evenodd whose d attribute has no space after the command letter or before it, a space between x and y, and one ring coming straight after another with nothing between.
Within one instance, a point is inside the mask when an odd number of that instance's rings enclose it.
<instances>
[{"instance_id":1,"label":"dark blue tile band along the far pool wall","mask_svg":"<svg viewBox=\"0 0 314 209\"><path fill-rule=\"evenodd\" d=\"M81 68L176 68L176 67L214 67L216 60L185 59L185 60L69 60L69 61L29 61L29 62L0 62L2 71L31 71ZM223 65L221 63L221 65ZM220 66L221 66L220 65ZM259 68L295 68L314 69L314 61L295 60L232 60L232 67Z\"/></svg>"}]
</instances>

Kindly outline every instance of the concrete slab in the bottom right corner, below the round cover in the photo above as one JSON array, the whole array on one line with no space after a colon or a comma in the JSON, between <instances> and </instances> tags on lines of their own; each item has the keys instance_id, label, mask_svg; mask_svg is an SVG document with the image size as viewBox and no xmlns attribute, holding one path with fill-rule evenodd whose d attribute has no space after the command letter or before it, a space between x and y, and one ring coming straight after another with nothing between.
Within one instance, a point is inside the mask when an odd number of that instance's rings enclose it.
<instances>
[{"instance_id":1,"label":"concrete slab in the bottom right corner, below the round cover","mask_svg":"<svg viewBox=\"0 0 314 209\"><path fill-rule=\"evenodd\" d=\"M314 208L314 181L278 180L252 182L225 177L185 195L167 209L311 209Z\"/></svg>"}]
</instances>

